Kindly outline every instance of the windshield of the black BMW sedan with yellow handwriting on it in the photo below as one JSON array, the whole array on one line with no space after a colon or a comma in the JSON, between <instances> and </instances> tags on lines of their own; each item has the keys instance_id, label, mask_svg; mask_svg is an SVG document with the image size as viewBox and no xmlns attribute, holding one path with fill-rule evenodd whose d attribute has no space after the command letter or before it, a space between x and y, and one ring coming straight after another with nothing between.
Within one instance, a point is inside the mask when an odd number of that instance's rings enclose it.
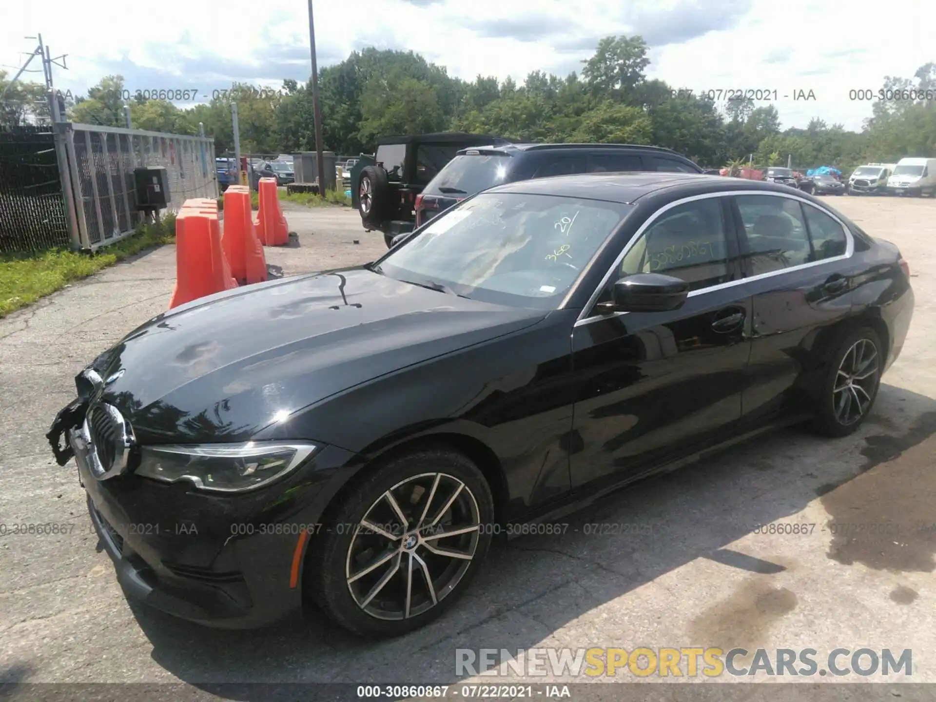
<instances>
[{"instance_id":1,"label":"windshield of the black BMW sedan with yellow handwriting on it","mask_svg":"<svg viewBox=\"0 0 936 702\"><path fill-rule=\"evenodd\" d=\"M482 194L433 219L374 270L473 300L552 310L633 209L576 197Z\"/></svg>"}]
</instances>

